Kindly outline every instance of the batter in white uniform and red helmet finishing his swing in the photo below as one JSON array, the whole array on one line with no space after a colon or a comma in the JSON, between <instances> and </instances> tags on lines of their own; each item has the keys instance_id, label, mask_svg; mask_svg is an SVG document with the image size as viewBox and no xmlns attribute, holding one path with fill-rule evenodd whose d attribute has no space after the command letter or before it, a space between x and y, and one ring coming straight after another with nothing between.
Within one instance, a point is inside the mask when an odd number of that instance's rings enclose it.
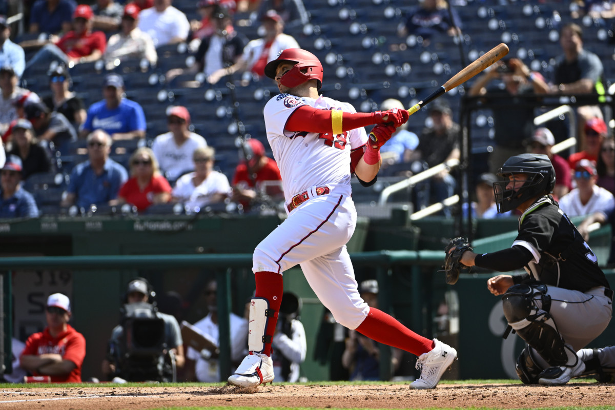
<instances>
[{"instance_id":1,"label":"batter in white uniform and red helmet finishing his swing","mask_svg":"<svg viewBox=\"0 0 615 410\"><path fill-rule=\"evenodd\" d=\"M351 174L363 186L376 181L379 148L408 111L357 113L351 104L319 94L322 65L301 49L282 51L265 67L280 94L264 108L267 138L282 173L288 218L253 254L256 293L250 304L248 349L228 382L255 387L274 379L271 339L282 302L282 274L300 264L303 274L333 317L375 341L418 356L421 377L413 388L432 388L457 352L429 340L387 313L367 306L359 296L346 250L357 221L351 198ZM369 140L364 128L376 124Z\"/></svg>"}]
</instances>

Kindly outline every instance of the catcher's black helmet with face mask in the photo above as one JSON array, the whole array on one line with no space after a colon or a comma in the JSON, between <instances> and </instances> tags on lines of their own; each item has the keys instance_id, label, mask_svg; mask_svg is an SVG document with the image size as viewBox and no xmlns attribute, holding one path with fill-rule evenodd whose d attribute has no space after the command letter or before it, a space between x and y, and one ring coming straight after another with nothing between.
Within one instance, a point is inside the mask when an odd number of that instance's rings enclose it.
<instances>
[{"instance_id":1,"label":"catcher's black helmet with face mask","mask_svg":"<svg viewBox=\"0 0 615 410\"><path fill-rule=\"evenodd\" d=\"M519 181L515 174L525 174L527 179ZM513 210L528 199L550 194L555 187L555 169L544 154L512 156L499 168L498 176L504 178L493 183L499 213ZM514 184L507 189L511 181Z\"/></svg>"}]
</instances>

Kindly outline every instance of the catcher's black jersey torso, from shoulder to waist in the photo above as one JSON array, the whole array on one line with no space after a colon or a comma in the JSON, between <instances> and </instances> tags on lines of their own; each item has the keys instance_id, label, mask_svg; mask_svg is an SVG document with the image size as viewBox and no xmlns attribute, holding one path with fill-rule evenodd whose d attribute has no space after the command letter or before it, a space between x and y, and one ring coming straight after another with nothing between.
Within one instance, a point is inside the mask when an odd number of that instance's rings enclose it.
<instances>
[{"instance_id":1,"label":"catcher's black jersey torso, from shoulder to waist","mask_svg":"<svg viewBox=\"0 0 615 410\"><path fill-rule=\"evenodd\" d=\"M597 258L563 211L547 197L523 213L515 242L530 243L540 254L526 269L543 283L585 292L609 288Z\"/></svg>"}]
</instances>

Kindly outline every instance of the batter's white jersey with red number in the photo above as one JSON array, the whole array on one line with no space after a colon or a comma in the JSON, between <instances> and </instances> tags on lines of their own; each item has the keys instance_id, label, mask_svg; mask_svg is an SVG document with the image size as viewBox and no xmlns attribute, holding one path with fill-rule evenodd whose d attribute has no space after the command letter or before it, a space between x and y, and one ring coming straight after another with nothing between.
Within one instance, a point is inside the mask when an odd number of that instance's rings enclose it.
<instances>
[{"instance_id":1,"label":"batter's white jersey with red number","mask_svg":"<svg viewBox=\"0 0 615 410\"><path fill-rule=\"evenodd\" d=\"M296 194L313 186L329 186L331 192L351 194L351 149L367 143L365 128L340 135L315 132L289 132L284 129L288 117L301 105L319 109L356 112L348 103L322 97L315 99L279 94L264 108L267 139L282 174L287 203Z\"/></svg>"}]
</instances>

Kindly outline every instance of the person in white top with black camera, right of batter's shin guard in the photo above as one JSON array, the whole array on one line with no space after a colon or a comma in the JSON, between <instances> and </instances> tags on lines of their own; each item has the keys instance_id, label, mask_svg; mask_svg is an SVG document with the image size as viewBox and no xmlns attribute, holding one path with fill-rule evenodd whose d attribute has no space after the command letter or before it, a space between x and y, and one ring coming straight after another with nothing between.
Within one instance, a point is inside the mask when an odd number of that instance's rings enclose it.
<instances>
[{"instance_id":1,"label":"person in white top with black camera, right of batter's shin guard","mask_svg":"<svg viewBox=\"0 0 615 410\"><path fill-rule=\"evenodd\" d=\"M301 299L294 293L282 294L277 321L276 334L273 337L274 382L296 382L299 380L299 365L306 359L308 342L306 331L301 323Z\"/></svg>"}]
</instances>

